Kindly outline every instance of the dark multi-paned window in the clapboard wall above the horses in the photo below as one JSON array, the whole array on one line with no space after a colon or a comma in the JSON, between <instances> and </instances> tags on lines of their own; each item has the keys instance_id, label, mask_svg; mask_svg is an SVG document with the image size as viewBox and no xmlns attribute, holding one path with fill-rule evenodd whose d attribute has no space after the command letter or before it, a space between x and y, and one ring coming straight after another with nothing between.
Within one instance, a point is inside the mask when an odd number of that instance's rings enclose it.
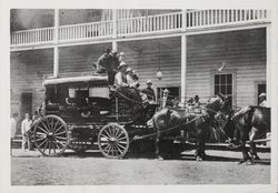
<instances>
[{"instance_id":1,"label":"dark multi-paned window in the clapboard wall above the horses","mask_svg":"<svg viewBox=\"0 0 278 193\"><path fill-rule=\"evenodd\" d=\"M222 93L228 96L232 104L232 74L216 74L215 75L215 94Z\"/></svg>"}]
</instances>

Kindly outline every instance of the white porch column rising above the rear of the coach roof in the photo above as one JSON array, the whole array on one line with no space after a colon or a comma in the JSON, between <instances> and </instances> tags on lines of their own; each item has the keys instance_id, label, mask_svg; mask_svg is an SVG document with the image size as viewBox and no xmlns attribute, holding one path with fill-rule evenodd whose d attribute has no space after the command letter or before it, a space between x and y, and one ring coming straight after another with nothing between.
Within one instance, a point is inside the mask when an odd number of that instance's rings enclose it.
<instances>
[{"instance_id":1,"label":"white porch column rising above the rear of the coach roof","mask_svg":"<svg viewBox=\"0 0 278 193\"><path fill-rule=\"evenodd\" d=\"M53 64L53 77L59 75L59 9L54 9L54 64Z\"/></svg>"}]
</instances>

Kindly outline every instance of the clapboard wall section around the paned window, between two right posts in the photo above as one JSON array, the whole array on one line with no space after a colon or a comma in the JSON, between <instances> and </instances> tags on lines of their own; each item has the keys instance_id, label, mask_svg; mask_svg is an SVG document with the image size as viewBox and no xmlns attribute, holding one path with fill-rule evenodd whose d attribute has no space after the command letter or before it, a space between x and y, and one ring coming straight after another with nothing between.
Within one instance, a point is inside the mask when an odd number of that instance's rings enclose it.
<instances>
[{"instance_id":1,"label":"clapboard wall section around the paned window, between two right posts","mask_svg":"<svg viewBox=\"0 0 278 193\"><path fill-rule=\"evenodd\" d=\"M225 73L236 71L234 104L256 104L255 82L266 81L265 29L190 35L187 40L187 96L211 96L211 71L226 62Z\"/></svg>"}]
</instances>

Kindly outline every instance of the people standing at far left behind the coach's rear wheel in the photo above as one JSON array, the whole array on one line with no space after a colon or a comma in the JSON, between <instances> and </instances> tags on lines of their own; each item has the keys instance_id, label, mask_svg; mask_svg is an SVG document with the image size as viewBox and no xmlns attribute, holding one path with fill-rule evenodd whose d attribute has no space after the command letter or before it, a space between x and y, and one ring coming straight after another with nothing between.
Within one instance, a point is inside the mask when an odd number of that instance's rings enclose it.
<instances>
[{"instance_id":1,"label":"people standing at far left behind the coach's rear wheel","mask_svg":"<svg viewBox=\"0 0 278 193\"><path fill-rule=\"evenodd\" d=\"M21 150L22 151L27 151L27 149L32 150L30 131L31 131L33 123L38 121L39 118L40 118L40 114L38 113L38 111L34 111L32 119L29 113L24 114L24 119L21 122L21 136L22 136ZM19 114L13 113L11 116L11 121L10 121L11 143L12 143L12 140L16 139L18 121L19 121Z\"/></svg>"}]
</instances>

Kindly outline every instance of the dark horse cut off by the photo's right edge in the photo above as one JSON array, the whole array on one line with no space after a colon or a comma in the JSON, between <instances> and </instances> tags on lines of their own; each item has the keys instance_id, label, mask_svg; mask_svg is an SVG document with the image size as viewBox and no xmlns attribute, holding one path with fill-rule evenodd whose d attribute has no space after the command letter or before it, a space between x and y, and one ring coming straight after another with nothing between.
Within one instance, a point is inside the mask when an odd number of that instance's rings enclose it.
<instances>
[{"instance_id":1,"label":"dark horse cut off by the photo's right edge","mask_svg":"<svg viewBox=\"0 0 278 193\"><path fill-rule=\"evenodd\" d=\"M224 130L229 138L234 139L231 146L241 149L244 158L241 162L251 164L254 160L260 159L256 151L255 140L270 132L270 108L249 105L231 110L227 114ZM249 143L250 152L248 152L246 143Z\"/></svg>"}]
</instances>

